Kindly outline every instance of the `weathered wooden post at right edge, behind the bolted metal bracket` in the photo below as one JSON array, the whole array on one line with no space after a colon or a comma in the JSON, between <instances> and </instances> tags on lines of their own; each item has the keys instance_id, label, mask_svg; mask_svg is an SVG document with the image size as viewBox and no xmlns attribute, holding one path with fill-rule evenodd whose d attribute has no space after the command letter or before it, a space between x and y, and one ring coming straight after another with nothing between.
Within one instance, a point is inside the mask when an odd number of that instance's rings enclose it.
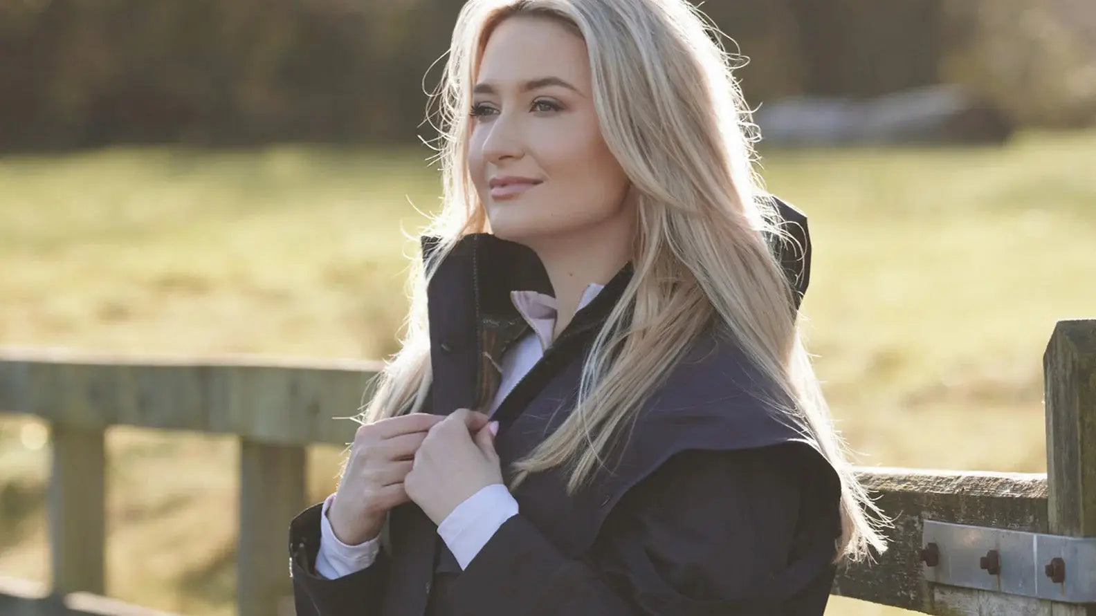
<instances>
[{"instance_id":1,"label":"weathered wooden post at right edge, behind the bolted metal bracket","mask_svg":"<svg viewBox=\"0 0 1096 616\"><path fill-rule=\"evenodd\" d=\"M1043 377L1050 533L1096 537L1096 320L1058 322ZM1052 614L1096 616L1096 606L1054 604Z\"/></svg>"}]
</instances>

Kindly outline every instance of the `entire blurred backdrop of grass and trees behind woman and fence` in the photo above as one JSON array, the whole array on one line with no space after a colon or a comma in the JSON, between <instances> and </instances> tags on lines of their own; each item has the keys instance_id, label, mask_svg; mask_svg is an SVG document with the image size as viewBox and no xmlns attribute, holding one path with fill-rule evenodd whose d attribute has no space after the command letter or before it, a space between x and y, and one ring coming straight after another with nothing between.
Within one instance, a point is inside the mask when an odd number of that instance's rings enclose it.
<instances>
[{"instance_id":1,"label":"entire blurred backdrop of grass and trees behind woman and fence","mask_svg":"<svg viewBox=\"0 0 1096 616\"><path fill-rule=\"evenodd\" d=\"M0 345L396 351L460 4L0 2ZM1044 471L1042 351L1096 316L1096 4L703 9L750 57L768 189L810 217L804 328L859 461ZM107 593L233 614L235 440L116 427L109 456ZM309 452L312 502L340 457ZM0 574L48 580L48 460L0 415Z\"/></svg>"}]
</instances>

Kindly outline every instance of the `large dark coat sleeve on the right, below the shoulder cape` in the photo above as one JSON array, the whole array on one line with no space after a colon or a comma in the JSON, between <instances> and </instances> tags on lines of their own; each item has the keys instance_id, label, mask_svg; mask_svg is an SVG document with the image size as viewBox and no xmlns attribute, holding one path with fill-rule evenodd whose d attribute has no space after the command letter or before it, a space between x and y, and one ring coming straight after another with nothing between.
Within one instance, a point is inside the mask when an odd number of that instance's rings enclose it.
<instances>
[{"instance_id":1,"label":"large dark coat sleeve on the right, below the shoulder cape","mask_svg":"<svg viewBox=\"0 0 1096 616\"><path fill-rule=\"evenodd\" d=\"M469 614L785 614L808 585L821 616L840 491L806 445L675 454L614 507L591 554L562 555L526 517L500 527L455 582ZM820 489L826 486L826 489Z\"/></svg>"}]
</instances>

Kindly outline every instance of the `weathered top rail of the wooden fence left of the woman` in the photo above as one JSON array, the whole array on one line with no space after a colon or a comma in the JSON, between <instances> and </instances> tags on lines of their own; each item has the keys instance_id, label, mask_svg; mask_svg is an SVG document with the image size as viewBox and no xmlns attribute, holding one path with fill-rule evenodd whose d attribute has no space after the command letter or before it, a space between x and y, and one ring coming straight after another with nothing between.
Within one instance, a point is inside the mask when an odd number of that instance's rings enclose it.
<instances>
[{"instance_id":1,"label":"weathered top rail of the wooden fence left of the woman","mask_svg":"<svg viewBox=\"0 0 1096 616\"><path fill-rule=\"evenodd\" d=\"M190 361L0 349L0 412L80 427L135 425L238 434L259 443L345 445L378 362Z\"/></svg>"}]
</instances>

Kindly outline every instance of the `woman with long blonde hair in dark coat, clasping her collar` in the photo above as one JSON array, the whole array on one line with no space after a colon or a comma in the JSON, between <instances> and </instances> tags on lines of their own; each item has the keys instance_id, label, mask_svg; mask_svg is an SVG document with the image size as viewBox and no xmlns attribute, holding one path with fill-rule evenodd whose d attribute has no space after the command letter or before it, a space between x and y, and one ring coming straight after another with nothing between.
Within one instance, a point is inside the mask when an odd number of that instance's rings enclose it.
<instances>
[{"instance_id":1,"label":"woman with long blonde hair in dark coat, clasping her collar","mask_svg":"<svg viewBox=\"0 0 1096 616\"><path fill-rule=\"evenodd\" d=\"M699 14L472 0L438 100L444 209L290 525L297 614L822 614L878 511L798 338L806 219Z\"/></svg>"}]
</instances>

